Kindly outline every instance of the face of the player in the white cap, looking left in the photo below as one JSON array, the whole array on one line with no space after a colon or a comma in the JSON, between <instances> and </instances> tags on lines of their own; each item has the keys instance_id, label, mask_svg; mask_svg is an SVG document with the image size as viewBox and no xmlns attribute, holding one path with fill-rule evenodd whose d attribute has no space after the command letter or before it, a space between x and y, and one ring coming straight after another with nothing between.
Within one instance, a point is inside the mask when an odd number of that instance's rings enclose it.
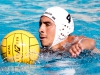
<instances>
[{"instance_id":1,"label":"face of the player in the white cap, looking left","mask_svg":"<svg viewBox=\"0 0 100 75\"><path fill-rule=\"evenodd\" d=\"M42 46L51 46L55 37L56 26L55 23L48 17L42 16L40 18L40 41Z\"/></svg>"}]
</instances>

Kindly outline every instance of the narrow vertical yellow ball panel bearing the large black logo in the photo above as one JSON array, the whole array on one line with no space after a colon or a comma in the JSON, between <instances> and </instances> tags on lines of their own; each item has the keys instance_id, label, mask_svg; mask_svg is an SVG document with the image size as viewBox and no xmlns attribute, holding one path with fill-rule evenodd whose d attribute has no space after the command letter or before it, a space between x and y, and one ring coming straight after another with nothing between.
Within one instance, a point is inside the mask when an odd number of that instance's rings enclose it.
<instances>
[{"instance_id":1,"label":"narrow vertical yellow ball panel bearing the large black logo","mask_svg":"<svg viewBox=\"0 0 100 75\"><path fill-rule=\"evenodd\" d=\"M22 42L22 34L16 33L14 36L14 40L12 42L13 47L12 47L12 54L13 54L13 61L18 61L22 59L22 48L23 48L23 42Z\"/></svg>"}]
</instances>

